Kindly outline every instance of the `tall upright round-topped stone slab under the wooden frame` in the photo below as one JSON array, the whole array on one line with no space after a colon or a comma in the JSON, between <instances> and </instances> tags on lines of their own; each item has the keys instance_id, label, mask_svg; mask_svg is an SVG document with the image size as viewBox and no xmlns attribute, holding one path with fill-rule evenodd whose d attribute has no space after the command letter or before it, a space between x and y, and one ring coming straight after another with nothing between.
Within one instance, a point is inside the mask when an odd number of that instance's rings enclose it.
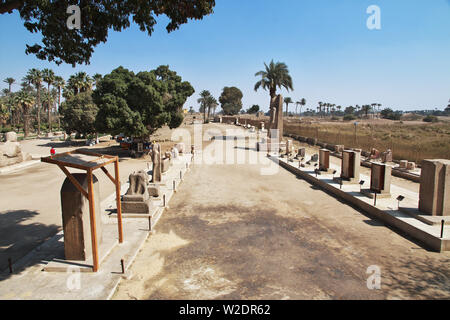
<instances>
[{"instance_id":1,"label":"tall upright round-topped stone slab under the wooden frame","mask_svg":"<svg viewBox=\"0 0 450 320\"><path fill-rule=\"evenodd\" d=\"M73 173L72 175L84 190L88 190L87 174ZM93 175L93 185L97 245L100 248L102 243L102 219L99 183L95 175ZM65 259L86 261L87 258L92 256L89 201L72 184L69 178L64 180L61 187L61 209Z\"/></svg>"}]
</instances>

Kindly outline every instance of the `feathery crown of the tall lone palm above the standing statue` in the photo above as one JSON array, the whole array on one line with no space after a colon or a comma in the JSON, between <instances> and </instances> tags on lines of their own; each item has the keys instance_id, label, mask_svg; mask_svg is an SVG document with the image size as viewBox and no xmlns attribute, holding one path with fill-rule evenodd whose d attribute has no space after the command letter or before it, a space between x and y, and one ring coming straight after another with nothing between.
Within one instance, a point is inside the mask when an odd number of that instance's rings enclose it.
<instances>
[{"instance_id":1,"label":"feathery crown of the tall lone palm above the standing statue","mask_svg":"<svg viewBox=\"0 0 450 320\"><path fill-rule=\"evenodd\" d=\"M261 77L261 80L255 84L255 91L258 91L260 87L264 90L269 90L270 101L272 102L272 99L277 95L277 88L285 88L287 91L294 90L292 78L285 63L274 63L272 60L269 65L264 63L264 67L265 70L255 73L255 77Z\"/></svg>"}]
</instances>

